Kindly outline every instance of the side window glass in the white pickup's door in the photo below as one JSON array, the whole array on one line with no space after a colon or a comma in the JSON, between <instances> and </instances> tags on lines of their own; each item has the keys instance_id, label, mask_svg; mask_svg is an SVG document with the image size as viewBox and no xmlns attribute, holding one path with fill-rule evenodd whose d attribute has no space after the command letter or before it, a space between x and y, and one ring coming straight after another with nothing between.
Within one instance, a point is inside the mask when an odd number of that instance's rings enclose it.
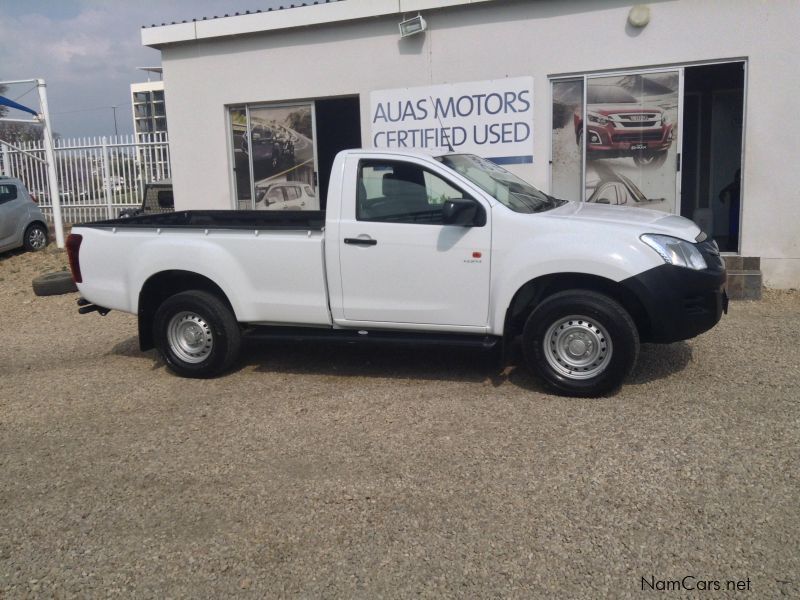
<instances>
[{"instance_id":1,"label":"side window glass in the white pickup's door","mask_svg":"<svg viewBox=\"0 0 800 600\"><path fill-rule=\"evenodd\" d=\"M394 161L361 161L356 187L359 221L441 225L445 200L470 198L420 166Z\"/></svg>"}]
</instances>

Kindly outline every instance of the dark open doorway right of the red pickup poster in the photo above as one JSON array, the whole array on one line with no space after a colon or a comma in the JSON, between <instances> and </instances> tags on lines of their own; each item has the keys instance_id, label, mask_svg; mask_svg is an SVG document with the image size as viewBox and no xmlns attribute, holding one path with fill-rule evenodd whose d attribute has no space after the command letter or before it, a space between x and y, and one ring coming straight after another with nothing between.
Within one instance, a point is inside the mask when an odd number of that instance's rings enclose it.
<instances>
[{"instance_id":1,"label":"dark open doorway right of the red pickup poster","mask_svg":"<svg viewBox=\"0 0 800 600\"><path fill-rule=\"evenodd\" d=\"M740 246L744 62L684 71L681 214L724 252Z\"/></svg>"}]
</instances>

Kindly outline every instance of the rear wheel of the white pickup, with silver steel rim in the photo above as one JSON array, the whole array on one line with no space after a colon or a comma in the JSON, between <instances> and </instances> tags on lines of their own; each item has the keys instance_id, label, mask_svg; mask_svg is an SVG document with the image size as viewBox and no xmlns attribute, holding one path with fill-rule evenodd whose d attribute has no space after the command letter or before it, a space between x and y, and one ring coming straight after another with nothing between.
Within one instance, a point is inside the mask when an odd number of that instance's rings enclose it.
<instances>
[{"instance_id":1,"label":"rear wheel of the white pickup, with silver steel rim","mask_svg":"<svg viewBox=\"0 0 800 600\"><path fill-rule=\"evenodd\" d=\"M171 371L181 377L219 375L239 355L241 330L231 309L200 290L167 298L156 310L153 339Z\"/></svg>"}]
</instances>

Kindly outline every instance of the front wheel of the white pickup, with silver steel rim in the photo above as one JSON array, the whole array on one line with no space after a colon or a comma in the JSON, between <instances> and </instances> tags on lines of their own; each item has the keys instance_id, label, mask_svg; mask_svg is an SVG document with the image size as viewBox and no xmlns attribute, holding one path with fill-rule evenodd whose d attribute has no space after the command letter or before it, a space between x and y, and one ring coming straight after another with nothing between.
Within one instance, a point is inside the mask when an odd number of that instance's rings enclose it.
<instances>
[{"instance_id":1,"label":"front wheel of the white pickup, with silver steel rim","mask_svg":"<svg viewBox=\"0 0 800 600\"><path fill-rule=\"evenodd\" d=\"M639 356L628 312L604 294L568 290L530 314L522 336L528 367L557 392L601 396L616 389Z\"/></svg>"}]
</instances>

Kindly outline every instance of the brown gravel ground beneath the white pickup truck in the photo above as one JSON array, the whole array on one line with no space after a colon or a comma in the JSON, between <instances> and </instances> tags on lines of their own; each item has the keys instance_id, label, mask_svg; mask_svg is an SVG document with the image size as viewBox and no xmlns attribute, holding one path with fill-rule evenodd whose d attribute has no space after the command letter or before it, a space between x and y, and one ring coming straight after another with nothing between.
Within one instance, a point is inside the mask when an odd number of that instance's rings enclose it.
<instances>
[{"instance_id":1,"label":"brown gravel ground beneath the white pickup truck","mask_svg":"<svg viewBox=\"0 0 800 600\"><path fill-rule=\"evenodd\" d=\"M0 256L0 597L800 595L796 292L574 400L466 351L179 379L131 315L33 295L65 264Z\"/></svg>"}]
</instances>

